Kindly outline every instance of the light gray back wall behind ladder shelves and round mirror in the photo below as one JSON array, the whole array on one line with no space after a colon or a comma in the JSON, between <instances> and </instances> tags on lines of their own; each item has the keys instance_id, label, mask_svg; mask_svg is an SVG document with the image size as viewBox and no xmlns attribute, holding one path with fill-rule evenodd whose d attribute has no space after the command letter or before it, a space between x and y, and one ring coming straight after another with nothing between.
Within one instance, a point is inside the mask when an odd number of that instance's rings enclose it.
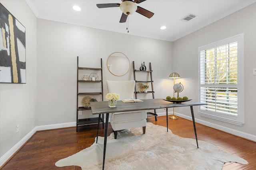
<instances>
[{"instance_id":1,"label":"light gray back wall behind ladder shelves and round mirror","mask_svg":"<svg viewBox=\"0 0 256 170\"><path fill-rule=\"evenodd\" d=\"M103 61L104 96L106 80L133 80L132 61L139 69L144 61L152 63L156 98L166 96L172 81L172 42L114 33L78 25L38 19L37 114L36 125L76 121L76 63L100 67ZM108 56L124 53L131 63L124 76L114 76L107 68ZM140 98L150 97L140 96ZM91 96L92 97L92 96ZM105 98L104 98L105 100Z\"/></svg>"}]
</instances>

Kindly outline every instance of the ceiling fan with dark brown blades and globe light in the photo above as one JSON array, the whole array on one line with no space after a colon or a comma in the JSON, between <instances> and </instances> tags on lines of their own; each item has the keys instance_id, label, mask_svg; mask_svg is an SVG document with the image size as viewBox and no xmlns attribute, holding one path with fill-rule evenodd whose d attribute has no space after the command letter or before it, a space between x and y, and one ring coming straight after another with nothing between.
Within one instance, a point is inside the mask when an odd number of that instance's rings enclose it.
<instances>
[{"instance_id":1,"label":"ceiling fan with dark brown blades and globe light","mask_svg":"<svg viewBox=\"0 0 256 170\"><path fill-rule=\"evenodd\" d=\"M146 0L122 0L121 4L114 3L114 4L96 4L96 5L98 8L120 7L123 13L119 22L122 23L122 22L126 22L127 16L133 14L134 12L138 12L139 14L147 18L151 18L154 15L153 12L150 12L136 5L144 1Z\"/></svg>"}]
</instances>

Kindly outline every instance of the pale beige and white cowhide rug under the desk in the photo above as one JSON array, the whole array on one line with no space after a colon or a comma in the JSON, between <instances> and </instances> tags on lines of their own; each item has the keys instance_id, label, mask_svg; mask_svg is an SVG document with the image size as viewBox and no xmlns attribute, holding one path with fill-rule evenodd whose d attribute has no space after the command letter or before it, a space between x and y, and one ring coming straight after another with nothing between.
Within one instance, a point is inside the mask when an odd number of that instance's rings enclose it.
<instances>
[{"instance_id":1,"label":"pale beige and white cowhide rug under the desk","mask_svg":"<svg viewBox=\"0 0 256 170\"><path fill-rule=\"evenodd\" d=\"M82 170L100 170L103 161L104 137L98 143L67 158L56 166L80 166ZM146 134L142 127L126 129L108 136L105 170L221 170L225 162L248 162L216 146L195 139L174 135L166 127L147 123Z\"/></svg>"}]
</instances>

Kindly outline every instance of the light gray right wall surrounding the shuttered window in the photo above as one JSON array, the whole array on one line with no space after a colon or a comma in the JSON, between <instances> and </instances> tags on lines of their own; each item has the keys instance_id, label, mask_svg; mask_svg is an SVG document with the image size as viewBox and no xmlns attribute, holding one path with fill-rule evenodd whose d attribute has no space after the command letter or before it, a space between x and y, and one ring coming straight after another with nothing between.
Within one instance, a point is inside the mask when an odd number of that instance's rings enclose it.
<instances>
[{"instance_id":1,"label":"light gray right wall surrounding the shuttered window","mask_svg":"<svg viewBox=\"0 0 256 170\"><path fill-rule=\"evenodd\" d=\"M179 80L185 86L182 93L192 96L197 101L198 91L195 89L198 89L198 47L240 33L244 33L244 125L232 125L200 117L198 109L195 111L195 117L202 121L256 135L256 76L252 75L253 68L256 68L256 3L175 41L173 43L173 61L176 64L173 67L182 77ZM190 114L181 108L176 111L185 115Z\"/></svg>"}]
</instances>

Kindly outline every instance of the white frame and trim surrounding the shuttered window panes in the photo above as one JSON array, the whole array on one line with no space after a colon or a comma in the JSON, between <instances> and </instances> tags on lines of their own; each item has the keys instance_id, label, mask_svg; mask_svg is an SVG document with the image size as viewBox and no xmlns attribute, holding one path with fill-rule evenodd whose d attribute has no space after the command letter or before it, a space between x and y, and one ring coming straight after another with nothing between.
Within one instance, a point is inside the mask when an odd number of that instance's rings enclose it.
<instances>
[{"instance_id":1,"label":"white frame and trim surrounding the shuttered window panes","mask_svg":"<svg viewBox=\"0 0 256 170\"><path fill-rule=\"evenodd\" d=\"M238 76L238 82L237 82L237 89L238 89L238 115L237 116L231 116L231 115L225 115L221 113L206 111L201 109L203 106L199 106L198 112L200 116L208 117L211 119L216 119L228 123L232 123L235 125L243 125L244 124L244 33L235 35L233 37L229 37L208 45L204 45L202 47L198 47L198 100L200 102L201 94L201 75L200 75L200 55L201 51L218 47L221 45L225 45L228 43L232 43L234 41L237 41L238 43L238 53L237 53L237 64L238 64L238 70L237 70L237 76ZM233 84L228 85L229 87L234 87Z\"/></svg>"}]
</instances>

